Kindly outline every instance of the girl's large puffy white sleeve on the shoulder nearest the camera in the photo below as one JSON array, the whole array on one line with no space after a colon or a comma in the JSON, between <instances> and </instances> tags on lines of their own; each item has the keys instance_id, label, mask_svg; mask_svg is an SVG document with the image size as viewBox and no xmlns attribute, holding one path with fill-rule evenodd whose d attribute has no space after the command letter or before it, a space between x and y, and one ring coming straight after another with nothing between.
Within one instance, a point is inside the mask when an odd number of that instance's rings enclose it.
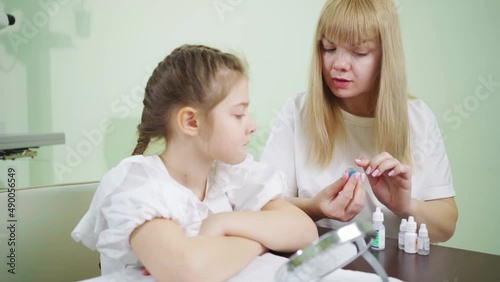
<instances>
[{"instance_id":1,"label":"girl's large puffy white sleeve on the shoulder nearest the camera","mask_svg":"<svg viewBox=\"0 0 500 282\"><path fill-rule=\"evenodd\" d=\"M137 263L129 244L135 228L157 217L182 225L182 209L193 208L179 196L182 192L165 187L170 185L165 179L144 156L125 159L103 177L88 212L71 234L73 239L101 255Z\"/></svg>"}]
</instances>

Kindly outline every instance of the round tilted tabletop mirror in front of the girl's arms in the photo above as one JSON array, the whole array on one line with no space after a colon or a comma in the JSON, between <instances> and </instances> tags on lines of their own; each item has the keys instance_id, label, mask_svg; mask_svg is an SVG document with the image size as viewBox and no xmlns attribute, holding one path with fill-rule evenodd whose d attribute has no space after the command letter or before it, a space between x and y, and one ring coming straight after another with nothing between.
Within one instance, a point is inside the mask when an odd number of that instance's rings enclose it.
<instances>
[{"instance_id":1,"label":"round tilted tabletop mirror in front of the girl's arms","mask_svg":"<svg viewBox=\"0 0 500 282\"><path fill-rule=\"evenodd\" d=\"M354 222L323 234L311 245L297 251L276 272L278 282L319 281L329 273L342 268L359 256L370 264L383 282L387 273L378 260L368 252L375 238L371 224Z\"/></svg>"}]
</instances>

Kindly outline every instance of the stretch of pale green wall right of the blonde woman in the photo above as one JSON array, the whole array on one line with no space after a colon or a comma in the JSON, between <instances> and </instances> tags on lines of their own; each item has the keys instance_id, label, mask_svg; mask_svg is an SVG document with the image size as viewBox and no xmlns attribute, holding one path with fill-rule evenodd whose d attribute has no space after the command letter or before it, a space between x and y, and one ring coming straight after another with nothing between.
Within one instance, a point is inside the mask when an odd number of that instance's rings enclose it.
<instances>
[{"instance_id":1,"label":"stretch of pale green wall right of the blonde woman","mask_svg":"<svg viewBox=\"0 0 500 282\"><path fill-rule=\"evenodd\" d=\"M457 192L445 245L500 255L500 1L401 1L411 92L434 110Z\"/></svg>"}]
</instances>

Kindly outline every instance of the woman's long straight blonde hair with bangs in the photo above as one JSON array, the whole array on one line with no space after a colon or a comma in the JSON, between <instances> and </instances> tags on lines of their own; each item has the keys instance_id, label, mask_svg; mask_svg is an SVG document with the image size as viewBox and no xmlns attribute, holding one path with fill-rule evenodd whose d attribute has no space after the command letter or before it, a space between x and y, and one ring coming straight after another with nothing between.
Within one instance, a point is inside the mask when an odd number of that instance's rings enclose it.
<instances>
[{"instance_id":1,"label":"woman's long straight blonde hair with bangs","mask_svg":"<svg viewBox=\"0 0 500 282\"><path fill-rule=\"evenodd\" d=\"M346 131L339 102L322 76L321 39L347 46L373 40L382 50L374 113L376 144L405 164L411 164L408 94L399 17L392 0L329 0L318 21L310 65L308 96L303 111L310 161L326 167L335 144Z\"/></svg>"}]
</instances>

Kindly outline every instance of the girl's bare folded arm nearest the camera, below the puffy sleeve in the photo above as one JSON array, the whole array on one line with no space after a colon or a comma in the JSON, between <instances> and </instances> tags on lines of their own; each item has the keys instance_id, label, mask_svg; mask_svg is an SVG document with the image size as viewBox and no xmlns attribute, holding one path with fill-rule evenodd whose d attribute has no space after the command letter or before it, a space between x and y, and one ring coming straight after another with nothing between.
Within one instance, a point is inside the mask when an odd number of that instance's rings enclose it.
<instances>
[{"instance_id":1,"label":"girl's bare folded arm nearest the camera, below the puffy sleeve","mask_svg":"<svg viewBox=\"0 0 500 282\"><path fill-rule=\"evenodd\" d=\"M265 252L260 243L241 237L187 237L168 219L136 228L130 245L157 281L224 281Z\"/></svg>"}]
</instances>

